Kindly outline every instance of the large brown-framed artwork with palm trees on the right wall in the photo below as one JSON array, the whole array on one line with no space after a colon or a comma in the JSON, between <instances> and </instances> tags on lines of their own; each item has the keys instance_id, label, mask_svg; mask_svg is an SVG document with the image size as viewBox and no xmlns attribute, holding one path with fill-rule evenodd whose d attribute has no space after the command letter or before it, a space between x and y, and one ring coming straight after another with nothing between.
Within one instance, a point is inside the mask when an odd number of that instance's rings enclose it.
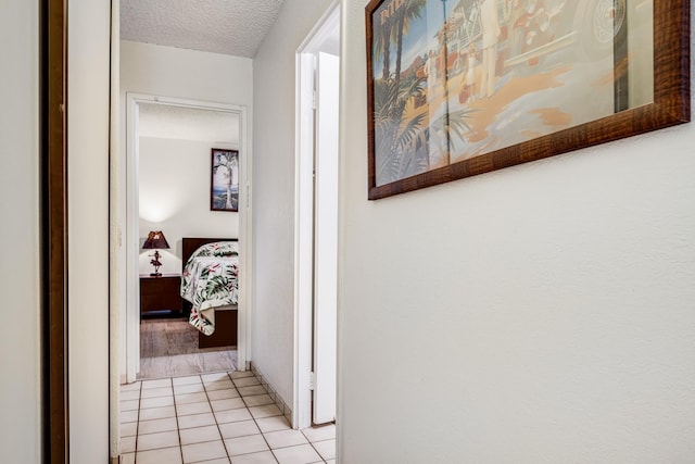
<instances>
[{"instance_id":1,"label":"large brown-framed artwork with palm trees on the right wall","mask_svg":"<svg viewBox=\"0 0 695 464\"><path fill-rule=\"evenodd\" d=\"M370 200L690 121L690 0L372 0Z\"/></svg>"}]
</instances>

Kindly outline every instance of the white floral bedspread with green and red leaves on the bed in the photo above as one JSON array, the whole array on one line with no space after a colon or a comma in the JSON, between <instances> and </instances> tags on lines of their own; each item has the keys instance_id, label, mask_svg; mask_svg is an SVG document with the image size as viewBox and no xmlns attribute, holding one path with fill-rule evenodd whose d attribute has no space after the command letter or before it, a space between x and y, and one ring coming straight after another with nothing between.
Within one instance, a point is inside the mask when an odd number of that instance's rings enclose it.
<instances>
[{"instance_id":1,"label":"white floral bedspread with green and red leaves on the bed","mask_svg":"<svg viewBox=\"0 0 695 464\"><path fill-rule=\"evenodd\" d=\"M189 323L205 335L215 331L214 309L239 302L239 247L236 241L207 243L184 267L181 297L193 305Z\"/></svg>"}]
</instances>

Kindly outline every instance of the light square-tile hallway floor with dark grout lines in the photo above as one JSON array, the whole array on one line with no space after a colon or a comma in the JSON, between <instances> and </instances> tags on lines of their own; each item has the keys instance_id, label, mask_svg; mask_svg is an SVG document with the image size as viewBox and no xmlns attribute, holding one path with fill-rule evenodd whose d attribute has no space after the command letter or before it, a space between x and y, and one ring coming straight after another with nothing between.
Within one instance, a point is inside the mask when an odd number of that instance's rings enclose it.
<instances>
[{"instance_id":1,"label":"light square-tile hallway floor with dark grout lines","mask_svg":"<svg viewBox=\"0 0 695 464\"><path fill-rule=\"evenodd\" d=\"M121 386L122 464L334 463L336 426L293 430L251 372Z\"/></svg>"}]
</instances>

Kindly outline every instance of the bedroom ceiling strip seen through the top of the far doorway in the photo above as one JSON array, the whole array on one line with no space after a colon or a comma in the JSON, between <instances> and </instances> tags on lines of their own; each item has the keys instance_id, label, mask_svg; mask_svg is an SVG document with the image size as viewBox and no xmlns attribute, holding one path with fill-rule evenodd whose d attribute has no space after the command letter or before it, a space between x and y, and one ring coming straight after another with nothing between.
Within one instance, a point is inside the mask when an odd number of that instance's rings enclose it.
<instances>
[{"instance_id":1,"label":"bedroom ceiling strip seen through the top of the far doorway","mask_svg":"<svg viewBox=\"0 0 695 464\"><path fill-rule=\"evenodd\" d=\"M157 103L140 103L138 135L176 140L239 143L239 116Z\"/></svg>"}]
</instances>

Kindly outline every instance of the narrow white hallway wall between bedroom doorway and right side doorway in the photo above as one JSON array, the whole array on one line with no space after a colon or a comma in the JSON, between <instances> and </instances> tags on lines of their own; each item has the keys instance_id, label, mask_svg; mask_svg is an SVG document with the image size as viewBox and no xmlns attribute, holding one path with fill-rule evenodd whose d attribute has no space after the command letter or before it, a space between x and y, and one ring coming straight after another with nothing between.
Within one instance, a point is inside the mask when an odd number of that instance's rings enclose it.
<instances>
[{"instance_id":1,"label":"narrow white hallway wall between bedroom doorway and right side doorway","mask_svg":"<svg viewBox=\"0 0 695 464\"><path fill-rule=\"evenodd\" d=\"M293 401L295 53L331 4L286 0L254 60L252 361Z\"/></svg>"}]
</instances>

